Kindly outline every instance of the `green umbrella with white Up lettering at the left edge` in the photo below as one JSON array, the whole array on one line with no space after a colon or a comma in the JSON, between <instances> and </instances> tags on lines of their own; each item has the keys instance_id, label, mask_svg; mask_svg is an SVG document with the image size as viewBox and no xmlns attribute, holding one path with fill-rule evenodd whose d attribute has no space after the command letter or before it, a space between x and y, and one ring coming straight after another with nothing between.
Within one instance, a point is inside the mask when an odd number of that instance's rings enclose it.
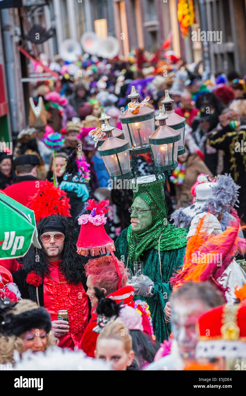
<instances>
[{"instance_id":1,"label":"green umbrella with white Up lettering at the left edge","mask_svg":"<svg viewBox=\"0 0 246 396\"><path fill-rule=\"evenodd\" d=\"M23 257L31 243L41 248L34 211L0 193L0 260Z\"/></svg>"}]
</instances>

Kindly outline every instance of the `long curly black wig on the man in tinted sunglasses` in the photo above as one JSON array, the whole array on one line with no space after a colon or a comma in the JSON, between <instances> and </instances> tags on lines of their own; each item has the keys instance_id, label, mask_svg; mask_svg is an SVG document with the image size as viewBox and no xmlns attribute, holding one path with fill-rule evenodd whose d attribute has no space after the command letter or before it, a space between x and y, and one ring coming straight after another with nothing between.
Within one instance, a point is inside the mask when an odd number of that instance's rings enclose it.
<instances>
[{"instance_id":1,"label":"long curly black wig on the man in tinted sunglasses","mask_svg":"<svg viewBox=\"0 0 246 396\"><path fill-rule=\"evenodd\" d=\"M37 225L38 240L41 244L40 230L51 220L56 220L61 223L65 230L64 247L62 250L62 262L60 264L61 272L66 277L66 280L69 283L78 284L79 282L82 282L84 286L86 284L84 265L92 257L83 257L77 254L76 242L79 237L79 231L73 227L71 217L52 215L42 219ZM51 263L49 263L47 259L47 255L43 246L41 249L36 249L33 245L31 245L28 253L24 257L23 269L27 272L35 271L43 278L45 274L49 273L50 266Z\"/></svg>"}]
</instances>

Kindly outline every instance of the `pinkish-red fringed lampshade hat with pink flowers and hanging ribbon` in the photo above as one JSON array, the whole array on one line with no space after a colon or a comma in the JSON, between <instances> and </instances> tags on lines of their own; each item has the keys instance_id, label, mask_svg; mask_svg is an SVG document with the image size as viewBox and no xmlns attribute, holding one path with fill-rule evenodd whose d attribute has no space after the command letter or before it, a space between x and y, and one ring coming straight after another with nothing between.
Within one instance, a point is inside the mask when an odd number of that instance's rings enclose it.
<instances>
[{"instance_id":1,"label":"pinkish-red fringed lampshade hat with pink flowers and hanging ribbon","mask_svg":"<svg viewBox=\"0 0 246 396\"><path fill-rule=\"evenodd\" d=\"M109 238L104 228L104 224L107 222L105 213L109 211L105 206L108 205L109 200L102 200L98 203L94 199L88 200L88 206L86 206L86 209L91 210L91 213L81 215L78 218L78 223L81 225L81 228L76 247L77 253L83 256L88 256L89 254L91 256L96 256L110 252L114 259L115 268L119 277L119 289L122 275L120 273L115 254L113 253L115 250L115 244L113 239Z\"/></svg>"}]
</instances>

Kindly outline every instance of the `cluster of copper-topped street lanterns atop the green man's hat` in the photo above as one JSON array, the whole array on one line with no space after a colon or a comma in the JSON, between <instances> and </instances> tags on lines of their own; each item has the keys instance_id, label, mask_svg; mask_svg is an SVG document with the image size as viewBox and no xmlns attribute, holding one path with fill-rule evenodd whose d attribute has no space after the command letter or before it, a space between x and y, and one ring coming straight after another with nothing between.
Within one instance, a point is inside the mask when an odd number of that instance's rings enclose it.
<instances>
[{"instance_id":1,"label":"cluster of copper-topped street lanterns atop the green man's hat","mask_svg":"<svg viewBox=\"0 0 246 396\"><path fill-rule=\"evenodd\" d=\"M149 98L147 97L139 103L138 97L139 93L132 86L131 93L128 95L131 102L128 103L128 109L119 117L124 139L122 139L120 129L109 125L110 117L105 114L103 108L101 108L100 117L102 126L91 131L90 135L94 137L94 141L99 147L98 152L103 157L111 177L117 179L137 177L134 156L150 152L156 180L160 176L166 179L170 170L178 165L177 156L185 150L185 118L173 112L173 100L170 99L166 90L164 100L166 114L163 114L160 108L160 114L156 117L156 126L159 128L155 131L154 109L146 106Z\"/></svg>"}]
</instances>

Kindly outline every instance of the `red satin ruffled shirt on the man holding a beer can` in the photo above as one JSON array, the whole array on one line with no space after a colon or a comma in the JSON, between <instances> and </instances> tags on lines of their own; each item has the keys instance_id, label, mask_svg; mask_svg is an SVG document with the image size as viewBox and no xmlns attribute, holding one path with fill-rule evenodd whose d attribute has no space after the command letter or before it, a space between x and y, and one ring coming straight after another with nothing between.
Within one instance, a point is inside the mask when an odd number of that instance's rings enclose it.
<instances>
[{"instance_id":1,"label":"red satin ruffled shirt on the man holding a beer can","mask_svg":"<svg viewBox=\"0 0 246 396\"><path fill-rule=\"evenodd\" d=\"M81 283L68 283L61 273L60 261L51 263L49 275L43 280L44 307L51 315L51 320L57 320L60 309L68 310L69 332L60 337L61 348L79 346L84 330L88 324L88 297Z\"/></svg>"}]
</instances>

